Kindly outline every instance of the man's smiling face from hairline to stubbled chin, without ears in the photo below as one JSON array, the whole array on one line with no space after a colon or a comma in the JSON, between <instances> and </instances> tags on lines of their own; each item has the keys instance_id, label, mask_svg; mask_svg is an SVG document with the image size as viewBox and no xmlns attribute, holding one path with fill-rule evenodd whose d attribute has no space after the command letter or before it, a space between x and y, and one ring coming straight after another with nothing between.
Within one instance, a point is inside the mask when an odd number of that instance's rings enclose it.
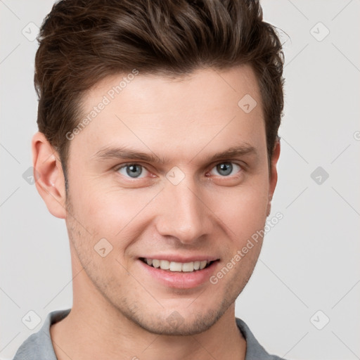
<instances>
[{"instance_id":1,"label":"man's smiling face from hairline to stubbled chin, without ears","mask_svg":"<svg viewBox=\"0 0 360 360\"><path fill-rule=\"evenodd\" d=\"M263 229L276 184L255 75L139 73L109 93L122 77L86 94L84 117L97 106L96 117L70 141L72 256L109 309L151 333L200 333L250 278L262 239L236 254ZM247 94L257 105L244 111Z\"/></svg>"}]
</instances>

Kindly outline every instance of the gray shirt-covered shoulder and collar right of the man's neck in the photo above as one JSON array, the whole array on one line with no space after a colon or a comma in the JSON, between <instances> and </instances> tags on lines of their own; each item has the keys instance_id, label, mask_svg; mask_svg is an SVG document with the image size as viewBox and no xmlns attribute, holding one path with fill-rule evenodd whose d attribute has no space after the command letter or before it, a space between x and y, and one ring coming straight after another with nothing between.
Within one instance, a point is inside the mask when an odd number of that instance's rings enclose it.
<instances>
[{"instance_id":1,"label":"gray shirt-covered shoulder and collar right of the man's neck","mask_svg":"<svg viewBox=\"0 0 360 360\"><path fill-rule=\"evenodd\" d=\"M235 320L236 325L246 340L245 360L285 360L279 356L271 355L266 352L264 347L259 344L254 334L251 332L248 325L241 319L235 318Z\"/></svg>"}]
</instances>

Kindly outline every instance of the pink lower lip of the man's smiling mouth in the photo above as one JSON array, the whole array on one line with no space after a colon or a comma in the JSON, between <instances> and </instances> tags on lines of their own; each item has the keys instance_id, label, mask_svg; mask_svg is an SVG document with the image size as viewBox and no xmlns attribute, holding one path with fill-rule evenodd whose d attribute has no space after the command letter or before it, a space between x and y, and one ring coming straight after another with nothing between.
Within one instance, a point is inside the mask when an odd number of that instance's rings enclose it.
<instances>
[{"instance_id":1,"label":"pink lower lip of the man's smiling mouth","mask_svg":"<svg viewBox=\"0 0 360 360\"><path fill-rule=\"evenodd\" d=\"M155 268L145 264L141 260L138 260L142 268L147 274L150 274L156 281L162 283L162 285L168 288L176 289L191 289L196 288L203 283L210 281L210 276L214 274L214 269L217 266L219 260L212 262L210 266L203 270L195 270L192 272L180 272L180 271L169 271Z\"/></svg>"}]
</instances>

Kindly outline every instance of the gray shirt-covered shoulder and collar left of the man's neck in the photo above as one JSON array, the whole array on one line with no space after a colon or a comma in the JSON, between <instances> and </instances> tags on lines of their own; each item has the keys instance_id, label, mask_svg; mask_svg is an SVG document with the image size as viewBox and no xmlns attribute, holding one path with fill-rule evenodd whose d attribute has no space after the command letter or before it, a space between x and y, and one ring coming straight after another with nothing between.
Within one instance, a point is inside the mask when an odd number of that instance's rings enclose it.
<instances>
[{"instance_id":1,"label":"gray shirt-covered shoulder and collar left of the man's neck","mask_svg":"<svg viewBox=\"0 0 360 360\"><path fill-rule=\"evenodd\" d=\"M13 360L56 360L50 337L50 326L68 316L70 309L52 311L41 329L27 338L18 348Z\"/></svg>"}]
</instances>

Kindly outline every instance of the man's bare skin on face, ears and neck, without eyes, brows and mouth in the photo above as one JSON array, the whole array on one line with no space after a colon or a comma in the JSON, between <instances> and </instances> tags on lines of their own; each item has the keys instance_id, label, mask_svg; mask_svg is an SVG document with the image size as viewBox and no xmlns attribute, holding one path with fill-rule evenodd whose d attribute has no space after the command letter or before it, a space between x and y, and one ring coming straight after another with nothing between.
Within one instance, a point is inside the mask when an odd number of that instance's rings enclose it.
<instances>
[{"instance_id":1,"label":"man's bare skin on face, ears and neck, without eyes, brows and mouth","mask_svg":"<svg viewBox=\"0 0 360 360\"><path fill-rule=\"evenodd\" d=\"M84 114L123 76L94 86ZM245 94L257 101L250 113L238 106ZM254 151L210 161L239 145ZM96 159L105 146L166 162ZM34 135L32 151L37 190L51 214L65 219L70 238L72 311L51 326L58 359L245 359L235 301L262 239L216 285L165 286L143 271L139 257L212 255L219 259L213 275L263 229L280 144L269 171L261 98L248 65L178 79L137 75L72 139L68 197L58 155L43 134ZM117 169L129 162L143 166L138 179ZM229 162L231 174L219 172L216 165ZM185 176L177 185L166 177L175 166ZM105 257L94 250L101 238L113 246ZM170 323L174 311L178 321Z\"/></svg>"}]
</instances>

